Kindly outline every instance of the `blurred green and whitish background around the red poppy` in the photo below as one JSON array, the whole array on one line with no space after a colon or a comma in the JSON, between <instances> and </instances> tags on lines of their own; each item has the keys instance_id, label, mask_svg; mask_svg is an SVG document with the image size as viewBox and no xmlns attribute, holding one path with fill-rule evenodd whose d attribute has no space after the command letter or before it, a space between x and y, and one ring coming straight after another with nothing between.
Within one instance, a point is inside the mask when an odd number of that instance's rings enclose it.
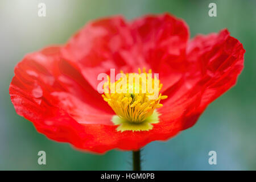
<instances>
[{"instance_id":1,"label":"blurred green and whitish background around the red poppy","mask_svg":"<svg viewBox=\"0 0 256 182\"><path fill-rule=\"evenodd\" d=\"M38 3L46 3L46 17L38 17ZM217 17L208 16L215 2ZM245 68L237 85L214 101L191 129L167 142L152 142L142 151L146 170L256 169L256 1L171 0L1 0L0 1L0 169L2 170L130 170L131 152L112 150L93 155L74 150L39 134L31 122L15 113L9 84L15 64L28 52L63 44L88 20L122 14L133 19L169 12L183 18L191 37L227 27L240 40ZM38 151L47 164L39 166ZM208 152L217 152L209 165Z\"/></svg>"}]
</instances>

